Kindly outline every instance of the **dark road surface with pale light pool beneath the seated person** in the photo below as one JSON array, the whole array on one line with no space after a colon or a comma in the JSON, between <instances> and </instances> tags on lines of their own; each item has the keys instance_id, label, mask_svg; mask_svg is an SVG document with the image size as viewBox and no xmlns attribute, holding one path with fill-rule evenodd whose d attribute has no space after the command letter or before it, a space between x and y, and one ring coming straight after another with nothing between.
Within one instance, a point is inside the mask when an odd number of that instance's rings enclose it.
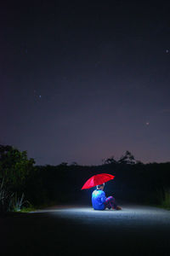
<instances>
[{"instance_id":1,"label":"dark road surface with pale light pool beneath the seated person","mask_svg":"<svg viewBox=\"0 0 170 256\"><path fill-rule=\"evenodd\" d=\"M170 255L170 212L65 206L1 216L1 255Z\"/></svg>"}]
</instances>

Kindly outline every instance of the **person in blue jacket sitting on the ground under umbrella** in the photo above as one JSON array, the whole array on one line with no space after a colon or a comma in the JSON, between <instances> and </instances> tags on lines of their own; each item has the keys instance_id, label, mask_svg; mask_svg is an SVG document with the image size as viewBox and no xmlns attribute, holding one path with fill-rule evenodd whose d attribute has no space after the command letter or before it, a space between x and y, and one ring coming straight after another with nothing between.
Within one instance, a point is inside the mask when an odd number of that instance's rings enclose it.
<instances>
[{"instance_id":1,"label":"person in blue jacket sitting on the ground under umbrella","mask_svg":"<svg viewBox=\"0 0 170 256\"><path fill-rule=\"evenodd\" d=\"M92 194L92 205L94 210L105 210L105 208L122 210L121 207L116 205L115 198L113 196L106 197L103 191L105 183L98 185L97 189L94 190Z\"/></svg>"}]
</instances>

